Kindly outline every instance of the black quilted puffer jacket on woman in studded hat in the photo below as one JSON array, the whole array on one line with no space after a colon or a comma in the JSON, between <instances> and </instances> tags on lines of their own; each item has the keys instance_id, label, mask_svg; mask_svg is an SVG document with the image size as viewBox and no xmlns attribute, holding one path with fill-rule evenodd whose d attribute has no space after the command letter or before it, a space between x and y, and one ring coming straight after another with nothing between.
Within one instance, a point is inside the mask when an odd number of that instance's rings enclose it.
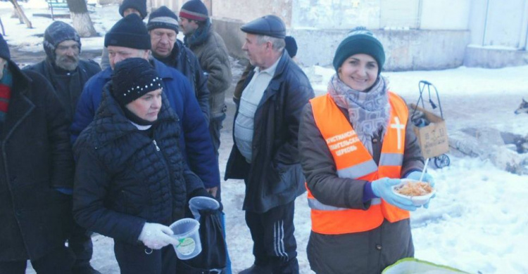
<instances>
[{"instance_id":1,"label":"black quilted puffer jacket on woman in studded hat","mask_svg":"<svg viewBox=\"0 0 528 274\"><path fill-rule=\"evenodd\" d=\"M165 96L150 138L125 118L111 83L74 146L73 212L88 230L134 244L145 222L182 218L187 193L203 184L184 162L178 118Z\"/></svg>"}]
</instances>

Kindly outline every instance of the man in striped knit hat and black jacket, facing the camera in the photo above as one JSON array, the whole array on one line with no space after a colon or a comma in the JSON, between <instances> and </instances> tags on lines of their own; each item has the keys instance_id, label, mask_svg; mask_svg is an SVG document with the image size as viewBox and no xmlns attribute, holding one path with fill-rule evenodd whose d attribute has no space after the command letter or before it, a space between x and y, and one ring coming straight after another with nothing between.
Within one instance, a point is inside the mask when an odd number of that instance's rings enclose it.
<instances>
[{"instance_id":1,"label":"man in striped knit hat and black jacket, facing the camera","mask_svg":"<svg viewBox=\"0 0 528 274\"><path fill-rule=\"evenodd\" d=\"M207 89L207 76L203 74L200 63L194 53L176 39L178 34L178 17L166 6L161 6L153 11L146 24L152 44L152 56L189 79L191 87L198 99L201 111L209 122L209 90ZM220 178L218 178L220 183Z\"/></svg>"}]
</instances>

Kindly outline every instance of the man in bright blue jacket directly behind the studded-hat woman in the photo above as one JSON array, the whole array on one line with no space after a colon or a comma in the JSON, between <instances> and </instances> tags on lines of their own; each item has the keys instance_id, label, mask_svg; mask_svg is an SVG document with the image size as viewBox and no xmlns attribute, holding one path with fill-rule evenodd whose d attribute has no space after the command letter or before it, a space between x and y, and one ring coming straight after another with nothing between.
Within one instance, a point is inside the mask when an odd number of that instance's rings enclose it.
<instances>
[{"instance_id":1,"label":"man in bright blue jacket directly behind the studded-hat woman","mask_svg":"<svg viewBox=\"0 0 528 274\"><path fill-rule=\"evenodd\" d=\"M136 14L130 14L116 22L106 33L104 45L108 47L111 67L95 74L84 85L70 128L73 141L94 119L101 102L101 91L110 81L115 64L127 58L144 58L150 61L163 79L163 92L167 95L172 110L180 118L183 133L180 138L180 148L184 152L189 168L200 177L206 188L218 186L220 183L218 161L214 156L207 121L203 117L189 80L174 68L149 58L151 39L141 18Z\"/></svg>"}]
</instances>

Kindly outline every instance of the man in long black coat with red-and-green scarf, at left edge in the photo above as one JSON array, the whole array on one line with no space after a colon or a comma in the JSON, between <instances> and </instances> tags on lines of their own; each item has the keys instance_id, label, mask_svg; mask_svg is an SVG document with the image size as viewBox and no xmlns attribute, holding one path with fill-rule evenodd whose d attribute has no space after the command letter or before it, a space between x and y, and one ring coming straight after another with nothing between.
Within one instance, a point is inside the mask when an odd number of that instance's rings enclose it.
<instances>
[{"instance_id":1,"label":"man in long black coat with red-and-green scarf, at left edge","mask_svg":"<svg viewBox=\"0 0 528 274\"><path fill-rule=\"evenodd\" d=\"M72 273L68 120L41 74L22 72L0 35L0 273Z\"/></svg>"}]
</instances>

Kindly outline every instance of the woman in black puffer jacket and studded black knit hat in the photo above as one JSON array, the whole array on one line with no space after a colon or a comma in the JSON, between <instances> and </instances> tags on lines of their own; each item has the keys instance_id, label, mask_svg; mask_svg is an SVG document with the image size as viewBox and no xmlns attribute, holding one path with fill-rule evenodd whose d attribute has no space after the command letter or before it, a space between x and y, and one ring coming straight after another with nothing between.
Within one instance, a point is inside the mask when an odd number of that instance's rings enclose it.
<instances>
[{"instance_id":1,"label":"woman in black puffer jacket and studded black knit hat","mask_svg":"<svg viewBox=\"0 0 528 274\"><path fill-rule=\"evenodd\" d=\"M114 239L121 273L175 273L168 226L190 197L208 195L178 148L178 117L162 86L148 61L118 63L74 146L75 219Z\"/></svg>"}]
</instances>

